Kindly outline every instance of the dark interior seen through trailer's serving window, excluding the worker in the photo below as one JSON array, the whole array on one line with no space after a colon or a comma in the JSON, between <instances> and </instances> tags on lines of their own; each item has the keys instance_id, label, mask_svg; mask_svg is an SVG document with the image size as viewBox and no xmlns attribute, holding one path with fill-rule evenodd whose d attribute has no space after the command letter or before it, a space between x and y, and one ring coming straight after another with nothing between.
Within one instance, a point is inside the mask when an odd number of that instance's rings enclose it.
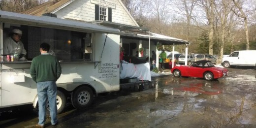
<instances>
[{"instance_id":1,"label":"dark interior seen through trailer's serving window, excluding the worker","mask_svg":"<svg viewBox=\"0 0 256 128\"><path fill-rule=\"evenodd\" d=\"M43 42L50 44L49 53L60 61L92 61L92 33L3 23L3 41L13 29L23 32L21 41L29 61L40 55L39 46Z\"/></svg>"}]
</instances>

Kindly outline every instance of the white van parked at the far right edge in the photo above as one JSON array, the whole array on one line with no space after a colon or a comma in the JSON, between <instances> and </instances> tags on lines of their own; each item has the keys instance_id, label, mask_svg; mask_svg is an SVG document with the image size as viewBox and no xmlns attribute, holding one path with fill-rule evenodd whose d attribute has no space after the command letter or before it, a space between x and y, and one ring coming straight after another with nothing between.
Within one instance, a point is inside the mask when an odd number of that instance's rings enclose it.
<instances>
[{"instance_id":1,"label":"white van parked at the far right edge","mask_svg":"<svg viewBox=\"0 0 256 128\"><path fill-rule=\"evenodd\" d=\"M242 50L234 51L229 56L222 59L222 65L224 67L230 67L230 65L237 66L256 66L256 50Z\"/></svg>"}]
</instances>

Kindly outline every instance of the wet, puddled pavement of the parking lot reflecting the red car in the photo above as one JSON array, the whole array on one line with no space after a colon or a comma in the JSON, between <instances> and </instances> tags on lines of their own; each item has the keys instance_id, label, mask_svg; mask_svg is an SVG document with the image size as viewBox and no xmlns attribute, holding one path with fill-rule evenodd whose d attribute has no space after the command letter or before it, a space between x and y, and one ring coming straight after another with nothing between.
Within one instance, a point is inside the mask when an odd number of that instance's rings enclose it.
<instances>
[{"instance_id":1,"label":"wet, puddled pavement of the parking lot reflecting the red car","mask_svg":"<svg viewBox=\"0 0 256 128\"><path fill-rule=\"evenodd\" d=\"M96 97L88 109L68 104L46 128L256 128L256 70L228 68L215 81L165 75L142 92L123 88ZM33 128L37 110L4 112L0 128Z\"/></svg>"}]
</instances>

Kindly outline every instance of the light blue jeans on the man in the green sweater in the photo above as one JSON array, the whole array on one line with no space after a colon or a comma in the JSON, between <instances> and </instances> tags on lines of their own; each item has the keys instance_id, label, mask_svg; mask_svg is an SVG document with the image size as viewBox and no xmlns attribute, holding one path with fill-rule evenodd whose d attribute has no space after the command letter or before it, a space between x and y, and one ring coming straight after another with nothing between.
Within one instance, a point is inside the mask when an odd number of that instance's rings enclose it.
<instances>
[{"instance_id":1,"label":"light blue jeans on the man in the green sweater","mask_svg":"<svg viewBox=\"0 0 256 128\"><path fill-rule=\"evenodd\" d=\"M47 99L50 105L50 116L51 116L51 123L55 125L58 123L57 120L57 103L56 103L56 96L57 96L57 85L55 81L44 81L44 82L37 82L37 96L38 96L38 125L44 125L46 118L45 118L45 107L47 103Z\"/></svg>"}]
</instances>

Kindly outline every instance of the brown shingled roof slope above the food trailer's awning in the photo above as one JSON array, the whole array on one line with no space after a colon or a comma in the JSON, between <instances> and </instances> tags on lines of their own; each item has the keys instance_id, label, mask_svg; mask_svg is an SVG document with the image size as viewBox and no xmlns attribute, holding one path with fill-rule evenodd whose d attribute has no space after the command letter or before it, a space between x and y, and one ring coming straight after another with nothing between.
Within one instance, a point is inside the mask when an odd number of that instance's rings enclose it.
<instances>
[{"instance_id":1,"label":"brown shingled roof slope above the food trailer's awning","mask_svg":"<svg viewBox=\"0 0 256 128\"><path fill-rule=\"evenodd\" d=\"M67 2L71 2L73 0L59 0L57 2L48 1L38 6L35 6L29 10L21 12L22 14L34 15L34 16L41 16L44 13L51 13L52 11L56 10L57 8L63 6Z\"/></svg>"}]
</instances>

